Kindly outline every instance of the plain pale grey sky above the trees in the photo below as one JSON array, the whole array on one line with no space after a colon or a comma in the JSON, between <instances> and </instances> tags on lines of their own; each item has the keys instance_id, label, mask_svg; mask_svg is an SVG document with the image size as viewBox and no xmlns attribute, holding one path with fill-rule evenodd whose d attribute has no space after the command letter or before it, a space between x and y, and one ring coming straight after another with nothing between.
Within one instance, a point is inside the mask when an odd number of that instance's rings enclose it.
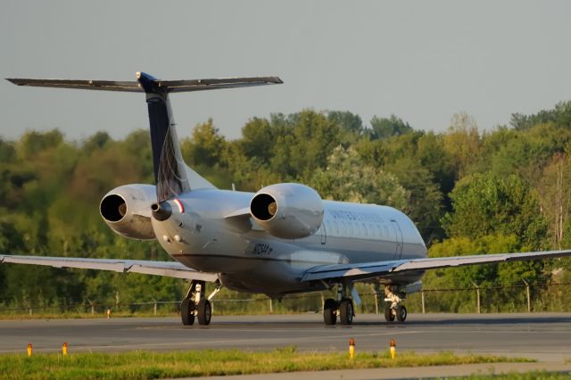
<instances>
[{"instance_id":1,"label":"plain pale grey sky above the trees","mask_svg":"<svg viewBox=\"0 0 571 380\"><path fill-rule=\"evenodd\" d=\"M277 75L285 84L173 95L179 136L213 118L240 136L253 116L304 108L396 114L480 128L571 99L567 1L24 1L0 12L4 78L135 80ZM81 139L146 128L144 95L0 81L0 136L60 128Z\"/></svg>"}]
</instances>

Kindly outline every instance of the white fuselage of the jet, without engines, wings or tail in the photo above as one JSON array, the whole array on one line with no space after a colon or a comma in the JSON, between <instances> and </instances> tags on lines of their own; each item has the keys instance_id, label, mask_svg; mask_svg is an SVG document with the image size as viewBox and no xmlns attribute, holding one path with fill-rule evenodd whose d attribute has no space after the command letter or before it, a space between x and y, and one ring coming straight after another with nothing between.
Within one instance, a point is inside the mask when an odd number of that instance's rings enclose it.
<instances>
[{"instance_id":1,"label":"white fuselage of the jet, without engines, wings or tail","mask_svg":"<svg viewBox=\"0 0 571 380\"><path fill-rule=\"evenodd\" d=\"M249 207L252 195L214 189L180 194L184 211L173 202L170 219L153 219L155 235L175 260L219 273L228 288L276 296L323 289L300 281L317 265L426 257L414 223L391 207L324 201L319 231L290 240L269 235L252 219L227 218ZM386 277L385 282L409 284L421 275Z\"/></svg>"}]
</instances>

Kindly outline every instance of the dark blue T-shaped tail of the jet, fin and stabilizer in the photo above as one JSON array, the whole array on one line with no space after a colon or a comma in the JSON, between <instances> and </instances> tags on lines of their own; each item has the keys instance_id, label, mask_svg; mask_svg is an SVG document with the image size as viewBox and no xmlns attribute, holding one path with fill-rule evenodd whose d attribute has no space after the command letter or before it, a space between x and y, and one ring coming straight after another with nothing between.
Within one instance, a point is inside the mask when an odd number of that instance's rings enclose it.
<instances>
[{"instance_id":1,"label":"dark blue T-shaped tail of the jet, fin and stabilizer","mask_svg":"<svg viewBox=\"0 0 571 380\"><path fill-rule=\"evenodd\" d=\"M170 108L170 93L283 83L277 77L160 80L145 72L137 72L137 81L25 78L8 80L17 86L145 92L151 128L157 202L165 201L192 188L215 188L194 170L188 168L183 161Z\"/></svg>"}]
</instances>

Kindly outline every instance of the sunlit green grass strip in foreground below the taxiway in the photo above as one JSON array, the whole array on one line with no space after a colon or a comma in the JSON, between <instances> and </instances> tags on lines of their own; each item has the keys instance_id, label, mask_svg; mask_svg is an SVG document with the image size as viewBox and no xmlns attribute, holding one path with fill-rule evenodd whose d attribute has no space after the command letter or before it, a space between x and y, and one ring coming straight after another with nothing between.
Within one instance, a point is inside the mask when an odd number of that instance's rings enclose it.
<instances>
[{"instance_id":1,"label":"sunlit green grass strip in foreground below the taxiway","mask_svg":"<svg viewBox=\"0 0 571 380\"><path fill-rule=\"evenodd\" d=\"M71 347L70 350L73 350ZM298 352L294 346L269 352L238 350L128 351L121 353L7 354L0 356L0 379L149 379L191 376L228 376L274 372L353 368L441 366L472 363L529 362L483 355L454 355L389 351L357 352L355 359L339 352Z\"/></svg>"}]
</instances>

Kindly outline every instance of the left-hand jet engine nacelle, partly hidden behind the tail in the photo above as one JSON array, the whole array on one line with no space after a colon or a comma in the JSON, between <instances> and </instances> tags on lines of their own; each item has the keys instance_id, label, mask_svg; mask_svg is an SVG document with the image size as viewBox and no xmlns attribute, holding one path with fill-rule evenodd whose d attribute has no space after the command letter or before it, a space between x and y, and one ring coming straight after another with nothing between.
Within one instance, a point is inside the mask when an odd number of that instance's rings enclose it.
<instances>
[{"instance_id":1,"label":"left-hand jet engine nacelle, partly hidden behind the tail","mask_svg":"<svg viewBox=\"0 0 571 380\"><path fill-rule=\"evenodd\" d=\"M117 234L130 239L153 240L151 205L156 200L153 185L119 186L103 196L99 212Z\"/></svg>"}]
</instances>

